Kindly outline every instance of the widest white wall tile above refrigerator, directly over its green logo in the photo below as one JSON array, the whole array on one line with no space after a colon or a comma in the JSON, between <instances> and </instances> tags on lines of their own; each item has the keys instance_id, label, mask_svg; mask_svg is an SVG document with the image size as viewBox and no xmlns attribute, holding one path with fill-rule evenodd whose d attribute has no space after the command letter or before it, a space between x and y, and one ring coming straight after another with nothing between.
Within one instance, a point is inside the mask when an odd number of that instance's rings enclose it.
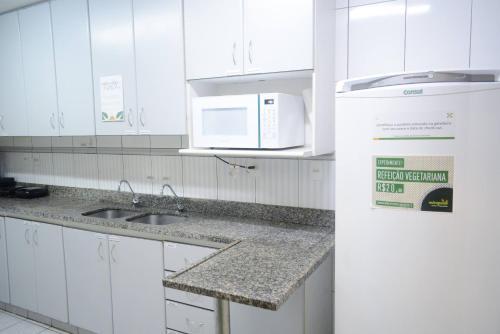
<instances>
[{"instance_id":1,"label":"widest white wall tile above refrigerator, directly over its green logo","mask_svg":"<svg viewBox=\"0 0 500 334\"><path fill-rule=\"evenodd\" d=\"M408 0L407 71L469 68L471 1Z\"/></svg>"}]
</instances>

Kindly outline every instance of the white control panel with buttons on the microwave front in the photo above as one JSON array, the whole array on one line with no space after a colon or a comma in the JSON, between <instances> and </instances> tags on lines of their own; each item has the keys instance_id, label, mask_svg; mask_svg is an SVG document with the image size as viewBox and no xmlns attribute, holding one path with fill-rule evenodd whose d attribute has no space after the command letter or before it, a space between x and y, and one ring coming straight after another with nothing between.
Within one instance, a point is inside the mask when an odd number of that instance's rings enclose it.
<instances>
[{"instance_id":1,"label":"white control panel with buttons on the microwave front","mask_svg":"<svg viewBox=\"0 0 500 334\"><path fill-rule=\"evenodd\" d=\"M264 97L260 103L260 147L277 148L278 99Z\"/></svg>"}]
</instances>

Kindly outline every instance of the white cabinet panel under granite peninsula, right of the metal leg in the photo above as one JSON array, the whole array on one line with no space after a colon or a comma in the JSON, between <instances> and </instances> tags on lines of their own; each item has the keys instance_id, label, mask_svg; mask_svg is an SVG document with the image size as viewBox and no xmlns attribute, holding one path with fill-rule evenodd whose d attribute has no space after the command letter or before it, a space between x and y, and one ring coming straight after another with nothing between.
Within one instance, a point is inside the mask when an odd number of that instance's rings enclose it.
<instances>
[{"instance_id":1,"label":"white cabinet panel under granite peninsula, right of the metal leg","mask_svg":"<svg viewBox=\"0 0 500 334\"><path fill-rule=\"evenodd\" d=\"M277 311L269 311L254 306L231 302L231 333L304 334L304 291L304 286L301 286Z\"/></svg>"}]
</instances>

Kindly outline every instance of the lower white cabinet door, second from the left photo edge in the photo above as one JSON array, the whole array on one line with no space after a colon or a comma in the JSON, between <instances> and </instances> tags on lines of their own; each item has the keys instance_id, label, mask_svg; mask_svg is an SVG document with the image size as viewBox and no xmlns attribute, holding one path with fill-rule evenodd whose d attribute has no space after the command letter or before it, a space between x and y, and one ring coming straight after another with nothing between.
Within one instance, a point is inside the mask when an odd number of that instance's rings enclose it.
<instances>
[{"instance_id":1,"label":"lower white cabinet door, second from the left photo edge","mask_svg":"<svg viewBox=\"0 0 500 334\"><path fill-rule=\"evenodd\" d=\"M33 229L30 222L6 218L10 301L37 312Z\"/></svg>"}]
</instances>

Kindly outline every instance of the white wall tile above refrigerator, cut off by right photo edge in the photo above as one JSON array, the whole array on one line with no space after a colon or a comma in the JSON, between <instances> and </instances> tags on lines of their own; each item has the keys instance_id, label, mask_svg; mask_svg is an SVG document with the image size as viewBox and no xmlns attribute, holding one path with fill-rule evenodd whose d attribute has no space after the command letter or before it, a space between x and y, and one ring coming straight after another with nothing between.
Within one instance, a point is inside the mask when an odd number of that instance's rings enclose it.
<instances>
[{"instance_id":1,"label":"white wall tile above refrigerator, cut off by right photo edge","mask_svg":"<svg viewBox=\"0 0 500 334\"><path fill-rule=\"evenodd\" d=\"M472 2L472 69L500 68L500 1L474 0Z\"/></svg>"}]
</instances>

